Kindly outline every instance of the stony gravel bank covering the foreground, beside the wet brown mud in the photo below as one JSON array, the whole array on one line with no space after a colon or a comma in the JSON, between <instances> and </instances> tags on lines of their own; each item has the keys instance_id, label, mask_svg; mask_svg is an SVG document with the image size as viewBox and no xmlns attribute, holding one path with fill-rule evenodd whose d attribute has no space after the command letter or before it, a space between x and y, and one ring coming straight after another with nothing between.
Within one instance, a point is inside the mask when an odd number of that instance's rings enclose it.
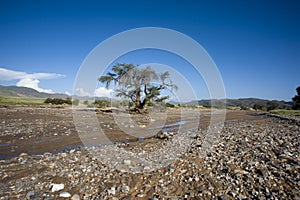
<instances>
[{"instance_id":1,"label":"stony gravel bank covering the foreground, beside the wet brown mud","mask_svg":"<svg viewBox=\"0 0 300 200\"><path fill-rule=\"evenodd\" d=\"M188 141L183 135L176 137L1 160L0 199L300 198L300 126L295 119L263 116L226 122L205 156L199 156L205 129L193 131ZM174 162L154 171L119 170L97 157L103 148L142 155L176 139L191 145ZM134 165L134 160L120 162L119 168Z\"/></svg>"}]
</instances>

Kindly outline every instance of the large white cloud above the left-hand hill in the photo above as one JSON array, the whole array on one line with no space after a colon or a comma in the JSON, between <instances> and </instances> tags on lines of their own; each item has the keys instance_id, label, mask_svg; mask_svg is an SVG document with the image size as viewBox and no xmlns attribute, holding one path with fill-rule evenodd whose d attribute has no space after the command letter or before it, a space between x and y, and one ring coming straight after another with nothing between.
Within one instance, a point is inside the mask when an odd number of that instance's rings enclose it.
<instances>
[{"instance_id":1,"label":"large white cloud above the left-hand hill","mask_svg":"<svg viewBox=\"0 0 300 200\"><path fill-rule=\"evenodd\" d=\"M0 68L0 81L18 80L16 86L28 87L39 92L54 93L51 89L43 89L39 87L40 80L62 78L65 75L56 73L33 73L19 72Z\"/></svg>"}]
</instances>

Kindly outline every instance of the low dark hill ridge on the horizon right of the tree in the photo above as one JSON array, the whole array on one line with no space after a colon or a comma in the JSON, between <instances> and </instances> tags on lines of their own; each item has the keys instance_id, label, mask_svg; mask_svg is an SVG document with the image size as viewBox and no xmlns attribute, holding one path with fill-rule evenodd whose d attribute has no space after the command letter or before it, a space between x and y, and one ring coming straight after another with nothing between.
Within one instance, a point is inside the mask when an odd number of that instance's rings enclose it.
<instances>
[{"instance_id":1,"label":"low dark hill ridge on the horizon right of the tree","mask_svg":"<svg viewBox=\"0 0 300 200\"><path fill-rule=\"evenodd\" d=\"M292 102L288 101L278 101L278 100L266 100L266 99L258 99L258 98L241 98L241 99L221 99L221 100L212 100L214 105L223 105L223 102L226 102L226 106L240 106L240 107L253 107L254 104L267 106L268 102L276 102L279 104L279 108L290 108L292 106ZM184 103L185 105L210 105L211 100L195 100L191 102Z\"/></svg>"}]
</instances>

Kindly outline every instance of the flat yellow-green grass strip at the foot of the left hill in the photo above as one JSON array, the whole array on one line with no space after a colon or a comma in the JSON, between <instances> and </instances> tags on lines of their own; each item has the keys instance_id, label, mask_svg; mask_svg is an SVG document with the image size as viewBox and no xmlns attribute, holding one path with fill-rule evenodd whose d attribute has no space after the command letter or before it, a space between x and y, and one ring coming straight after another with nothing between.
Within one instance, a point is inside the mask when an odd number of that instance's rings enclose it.
<instances>
[{"instance_id":1,"label":"flat yellow-green grass strip at the foot of the left hill","mask_svg":"<svg viewBox=\"0 0 300 200\"><path fill-rule=\"evenodd\" d=\"M43 98L0 96L0 104L8 104L8 105L43 105L44 101L45 99Z\"/></svg>"}]
</instances>

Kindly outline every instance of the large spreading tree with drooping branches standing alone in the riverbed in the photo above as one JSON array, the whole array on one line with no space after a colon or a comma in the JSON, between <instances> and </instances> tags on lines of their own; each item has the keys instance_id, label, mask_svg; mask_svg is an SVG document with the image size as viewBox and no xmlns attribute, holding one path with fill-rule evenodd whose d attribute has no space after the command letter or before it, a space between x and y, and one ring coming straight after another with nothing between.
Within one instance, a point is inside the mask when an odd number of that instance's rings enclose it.
<instances>
[{"instance_id":1,"label":"large spreading tree with drooping branches standing alone in the riverbed","mask_svg":"<svg viewBox=\"0 0 300 200\"><path fill-rule=\"evenodd\" d=\"M162 102L168 96L161 96L165 89L177 89L170 79L169 72L156 73L151 67L138 68L138 65L117 63L99 81L110 87L113 82L117 97L125 97L134 104L134 110L142 111L150 102ZM154 82L156 84L154 84Z\"/></svg>"}]
</instances>

